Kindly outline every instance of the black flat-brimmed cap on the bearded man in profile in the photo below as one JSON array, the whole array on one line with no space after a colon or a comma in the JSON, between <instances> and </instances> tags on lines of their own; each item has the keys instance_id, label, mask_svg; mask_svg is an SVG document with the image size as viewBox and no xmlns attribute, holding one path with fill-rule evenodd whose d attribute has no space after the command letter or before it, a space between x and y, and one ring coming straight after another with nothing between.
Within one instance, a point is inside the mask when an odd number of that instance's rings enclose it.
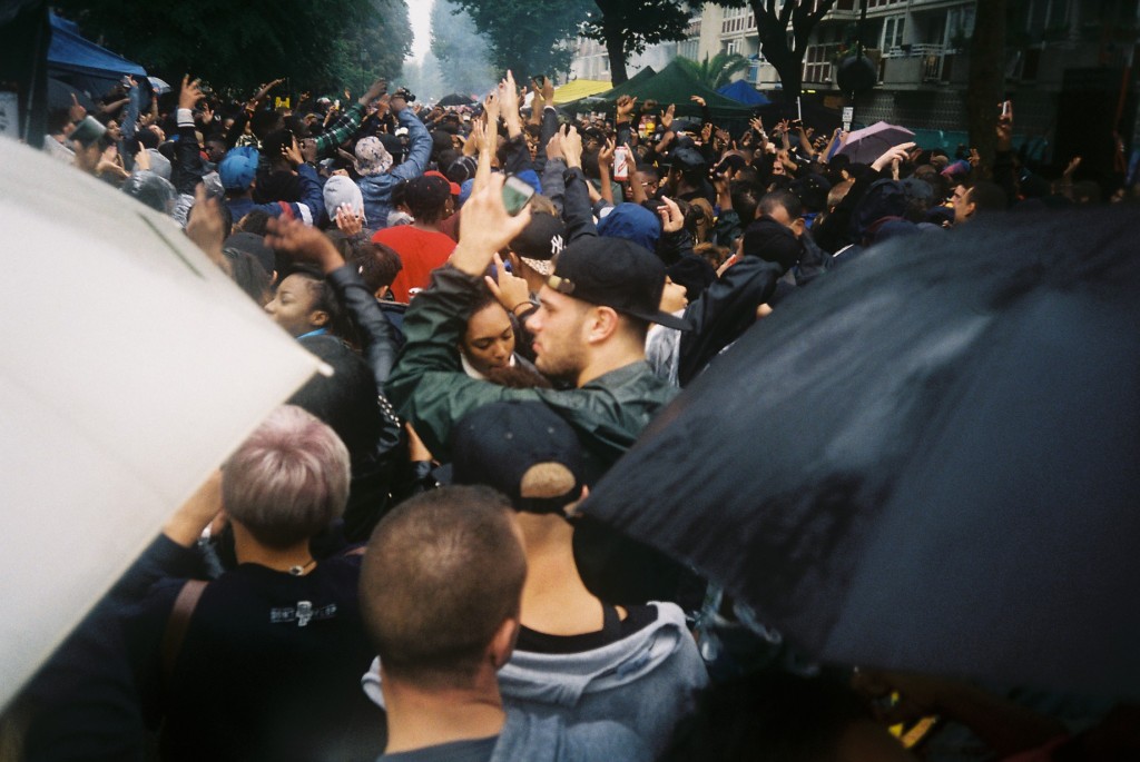
<instances>
[{"instance_id":1,"label":"black flat-brimmed cap on the bearded man in profile","mask_svg":"<svg viewBox=\"0 0 1140 762\"><path fill-rule=\"evenodd\" d=\"M576 240L559 255L546 285L642 320L678 330L691 328L686 320L661 312L665 263L632 240L601 236Z\"/></svg>"}]
</instances>

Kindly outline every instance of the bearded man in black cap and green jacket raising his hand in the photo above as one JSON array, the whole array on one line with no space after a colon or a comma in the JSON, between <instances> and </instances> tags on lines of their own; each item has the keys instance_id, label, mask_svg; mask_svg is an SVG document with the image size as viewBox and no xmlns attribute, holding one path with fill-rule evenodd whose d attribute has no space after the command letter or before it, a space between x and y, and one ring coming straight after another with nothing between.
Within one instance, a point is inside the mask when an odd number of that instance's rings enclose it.
<instances>
[{"instance_id":1,"label":"bearded man in black cap and green jacket raising his hand","mask_svg":"<svg viewBox=\"0 0 1140 762\"><path fill-rule=\"evenodd\" d=\"M539 308L527 320L536 367L572 388L506 388L463 372L456 347L483 273L530 219L529 210L518 216L506 213L503 183L492 177L471 196L463 207L459 245L408 308L407 344L389 378L388 396L441 460L450 459L453 427L475 408L504 400L543 402L575 428L587 460L586 481L594 483L676 394L645 362L649 323L686 323L660 312L665 265L654 254L632 241L585 236L559 255L554 275L538 294ZM644 548L618 548L586 524L580 530L579 567L595 595L610 603L673 597L676 574L663 570L660 558ZM618 559L621 572L611 566Z\"/></svg>"}]
</instances>

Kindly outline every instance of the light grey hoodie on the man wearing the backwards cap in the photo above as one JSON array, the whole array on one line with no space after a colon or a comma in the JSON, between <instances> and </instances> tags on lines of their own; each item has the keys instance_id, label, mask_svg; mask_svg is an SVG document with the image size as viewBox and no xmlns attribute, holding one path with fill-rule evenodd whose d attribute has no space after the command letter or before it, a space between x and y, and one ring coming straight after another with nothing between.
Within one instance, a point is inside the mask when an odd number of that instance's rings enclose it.
<instances>
[{"instance_id":1,"label":"light grey hoodie on the man wearing the backwards cap","mask_svg":"<svg viewBox=\"0 0 1140 762\"><path fill-rule=\"evenodd\" d=\"M611 720L632 729L658 757L677 722L693 711L708 672L678 606L652 603L657 618L602 648L576 654L515 649L499 670L503 698L538 716L570 723ZM376 662L361 680L382 704Z\"/></svg>"}]
</instances>

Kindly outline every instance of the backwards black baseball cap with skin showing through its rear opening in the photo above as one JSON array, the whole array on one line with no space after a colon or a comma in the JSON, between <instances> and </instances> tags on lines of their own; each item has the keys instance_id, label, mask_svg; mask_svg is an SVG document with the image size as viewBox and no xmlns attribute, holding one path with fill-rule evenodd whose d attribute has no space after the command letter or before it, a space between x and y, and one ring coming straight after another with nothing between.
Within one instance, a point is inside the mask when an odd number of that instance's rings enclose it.
<instances>
[{"instance_id":1,"label":"backwards black baseball cap with skin showing through its rear opening","mask_svg":"<svg viewBox=\"0 0 1140 762\"><path fill-rule=\"evenodd\" d=\"M561 514L581 494L581 444L573 428L542 402L494 402L455 427L451 482L486 484L516 510Z\"/></svg>"}]
</instances>

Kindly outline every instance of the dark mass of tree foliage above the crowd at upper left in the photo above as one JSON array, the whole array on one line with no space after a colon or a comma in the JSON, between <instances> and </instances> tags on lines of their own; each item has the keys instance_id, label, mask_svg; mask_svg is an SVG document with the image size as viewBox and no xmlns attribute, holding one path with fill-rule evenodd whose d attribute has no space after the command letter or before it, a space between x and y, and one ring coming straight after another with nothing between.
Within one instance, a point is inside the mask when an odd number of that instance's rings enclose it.
<instances>
[{"instance_id":1,"label":"dark mass of tree foliage above the crowd at upper left","mask_svg":"<svg viewBox=\"0 0 1140 762\"><path fill-rule=\"evenodd\" d=\"M174 83L182 74L250 90L353 89L399 75L410 52L406 0L59 0L84 34Z\"/></svg>"}]
</instances>

